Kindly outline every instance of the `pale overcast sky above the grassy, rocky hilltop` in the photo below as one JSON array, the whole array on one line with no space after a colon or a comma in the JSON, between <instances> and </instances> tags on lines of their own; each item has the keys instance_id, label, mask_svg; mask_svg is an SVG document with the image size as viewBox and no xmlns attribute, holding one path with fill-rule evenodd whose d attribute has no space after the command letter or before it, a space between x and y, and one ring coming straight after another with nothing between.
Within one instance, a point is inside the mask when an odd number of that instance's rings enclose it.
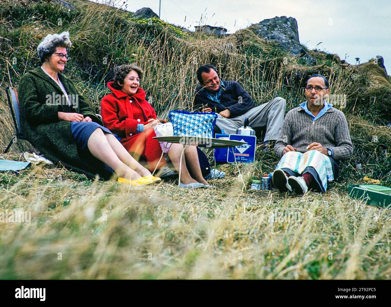
<instances>
[{"instance_id":1,"label":"pale overcast sky above the grassy, rocky hilltop","mask_svg":"<svg viewBox=\"0 0 391 307\"><path fill-rule=\"evenodd\" d=\"M109 0L95 0L107 3ZM150 7L159 14L159 0L114 0L127 11ZM111 0L113 3L113 0ZM351 64L379 55L391 74L391 0L161 0L160 19L194 31L201 24L223 26L228 33L275 16L296 18L300 43L338 54Z\"/></svg>"}]
</instances>

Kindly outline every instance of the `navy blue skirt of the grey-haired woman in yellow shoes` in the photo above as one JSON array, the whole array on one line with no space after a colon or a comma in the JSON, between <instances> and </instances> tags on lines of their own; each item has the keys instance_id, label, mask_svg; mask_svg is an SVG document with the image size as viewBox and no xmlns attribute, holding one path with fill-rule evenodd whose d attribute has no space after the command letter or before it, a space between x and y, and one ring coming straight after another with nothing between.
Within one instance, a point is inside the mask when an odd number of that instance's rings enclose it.
<instances>
[{"instance_id":1,"label":"navy blue skirt of the grey-haired woman in yellow shoes","mask_svg":"<svg viewBox=\"0 0 391 307\"><path fill-rule=\"evenodd\" d=\"M77 152L79 153L81 160L94 169L100 177L109 179L113 175L113 169L106 163L95 158L87 146L88 139L97 128L102 129L103 133L114 135L109 129L96 122L71 122L72 136L75 139Z\"/></svg>"}]
</instances>

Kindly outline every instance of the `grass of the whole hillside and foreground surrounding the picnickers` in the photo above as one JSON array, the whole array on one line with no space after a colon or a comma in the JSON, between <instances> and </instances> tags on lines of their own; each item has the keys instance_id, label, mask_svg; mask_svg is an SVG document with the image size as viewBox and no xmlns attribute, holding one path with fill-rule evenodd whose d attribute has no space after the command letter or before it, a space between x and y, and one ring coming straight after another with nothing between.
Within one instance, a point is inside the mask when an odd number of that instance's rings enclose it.
<instances>
[{"instance_id":1,"label":"grass of the whole hillside and foreground surrounding the picnickers","mask_svg":"<svg viewBox=\"0 0 391 307\"><path fill-rule=\"evenodd\" d=\"M115 65L133 61L146 70L142 87L163 117L171 108L188 108L201 63L212 62L224 79L238 80L257 104L286 98L288 110L303 100L307 75L321 72L334 93L348 96L343 110L355 154L327 193L304 197L242 191L233 165L222 165L227 177L211 181L217 190L199 191L178 189L175 182L129 190L41 166L0 174L2 211L23 208L33 217L29 226L0 223L0 278L391 277L390 210L346 197L348 185L366 175L391 184L390 155L383 154L391 134L378 127L390 118L391 88L371 63L344 67L337 57L312 51L320 65L308 67L251 29L222 39L182 35L158 21L149 25L109 7L71 2L77 10L70 13L50 3L2 7L1 90L10 80L17 86L25 70L38 65L42 35L65 30L74 43L67 73L96 109ZM0 109L2 122L9 122L4 95ZM12 125L2 127L5 146ZM28 149L19 141L0 158L23 160L16 152ZM246 182L277 162L259 150L256 158L240 166ZM300 220L270 223L276 209L300 214Z\"/></svg>"}]
</instances>

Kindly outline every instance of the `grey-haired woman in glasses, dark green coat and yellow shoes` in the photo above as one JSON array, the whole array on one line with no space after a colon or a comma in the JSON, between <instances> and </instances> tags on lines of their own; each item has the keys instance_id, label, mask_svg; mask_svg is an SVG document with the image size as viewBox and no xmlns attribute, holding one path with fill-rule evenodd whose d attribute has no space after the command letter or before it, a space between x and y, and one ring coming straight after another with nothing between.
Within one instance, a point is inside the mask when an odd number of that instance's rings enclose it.
<instances>
[{"instance_id":1,"label":"grey-haired woman in glasses, dark green coat and yellow shoes","mask_svg":"<svg viewBox=\"0 0 391 307\"><path fill-rule=\"evenodd\" d=\"M20 79L23 134L46 158L94 178L117 174L130 185L160 182L140 165L91 110L63 74L72 46L69 33L49 34L38 45L41 67Z\"/></svg>"}]
</instances>

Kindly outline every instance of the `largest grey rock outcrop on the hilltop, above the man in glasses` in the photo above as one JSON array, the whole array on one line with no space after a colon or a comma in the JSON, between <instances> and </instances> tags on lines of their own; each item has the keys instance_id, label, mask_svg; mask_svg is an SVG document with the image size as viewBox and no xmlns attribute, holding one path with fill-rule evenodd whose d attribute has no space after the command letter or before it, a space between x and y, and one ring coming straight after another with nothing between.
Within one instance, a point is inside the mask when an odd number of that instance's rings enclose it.
<instances>
[{"instance_id":1,"label":"largest grey rock outcrop on the hilltop, above the man in glasses","mask_svg":"<svg viewBox=\"0 0 391 307\"><path fill-rule=\"evenodd\" d=\"M262 20L252 25L260 38L274 41L292 56L300 55L310 65L316 65L316 59L310 56L299 41L297 21L293 17L281 16Z\"/></svg>"}]
</instances>

